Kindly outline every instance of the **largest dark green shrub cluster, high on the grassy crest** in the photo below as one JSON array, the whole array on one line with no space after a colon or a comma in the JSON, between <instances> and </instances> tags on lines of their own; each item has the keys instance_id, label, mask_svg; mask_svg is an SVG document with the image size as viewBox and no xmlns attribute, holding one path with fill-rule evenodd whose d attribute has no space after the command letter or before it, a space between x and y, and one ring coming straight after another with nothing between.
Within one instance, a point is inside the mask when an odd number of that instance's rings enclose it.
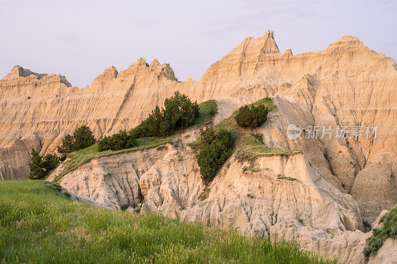
<instances>
[{"instance_id":1,"label":"largest dark green shrub cluster, high on the grassy crest","mask_svg":"<svg viewBox=\"0 0 397 264\"><path fill-rule=\"evenodd\" d=\"M133 138L169 136L176 130L194 124L199 116L199 105L178 91L173 97L164 101L164 108L159 106L151 112L137 127L130 131Z\"/></svg>"}]
</instances>

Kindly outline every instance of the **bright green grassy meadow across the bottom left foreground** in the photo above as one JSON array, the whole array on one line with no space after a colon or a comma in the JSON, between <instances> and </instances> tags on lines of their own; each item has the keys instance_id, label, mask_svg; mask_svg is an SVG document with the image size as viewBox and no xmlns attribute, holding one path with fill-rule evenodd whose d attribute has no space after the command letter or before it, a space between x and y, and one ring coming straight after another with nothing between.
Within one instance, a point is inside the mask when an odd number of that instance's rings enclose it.
<instances>
[{"instance_id":1,"label":"bright green grassy meadow across the bottom left foreground","mask_svg":"<svg viewBox=\"0 0 397 264\"><path fill-rule=\"evenodd\" d=\"M282 240L72 202L39 180L3 180L0 193L0 263L336 263Z\"/></svg>"}]
</instances>

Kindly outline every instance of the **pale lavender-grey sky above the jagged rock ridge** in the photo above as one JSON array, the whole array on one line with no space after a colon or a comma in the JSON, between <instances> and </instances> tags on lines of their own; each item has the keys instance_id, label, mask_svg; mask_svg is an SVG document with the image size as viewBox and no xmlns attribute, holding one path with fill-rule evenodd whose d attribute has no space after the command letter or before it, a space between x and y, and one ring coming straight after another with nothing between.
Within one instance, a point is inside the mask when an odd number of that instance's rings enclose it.
<instances>
[{"instance_id":1,"label":"pale lavender-grey sky above the jagged rock ridge","mask_svg":"<svg viewBox=\"0 0 397 264\"><path fill-rule=\"evenodd\" d=\"M281 52L318 52L344 35L397 59L397 0L0 0L0 78L20 65L77 87L143 57L180 81L267 29Z\"/></svg>"}]
</instances>

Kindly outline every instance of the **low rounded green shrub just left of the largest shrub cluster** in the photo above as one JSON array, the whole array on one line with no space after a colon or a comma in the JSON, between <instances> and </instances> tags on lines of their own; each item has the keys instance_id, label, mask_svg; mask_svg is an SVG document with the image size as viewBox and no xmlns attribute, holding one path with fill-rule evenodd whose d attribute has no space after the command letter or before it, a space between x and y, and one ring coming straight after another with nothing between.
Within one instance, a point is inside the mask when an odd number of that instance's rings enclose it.
<instances>
[{"instance_id":1,"label":"low rounded green shrub just left of the largest shrub cluster","mask_svg":"<svg viewBox=\"0 0 397 264\"><path fill-rule=\"evenodd\" d=\"M118 151L132 147L135 147L135 140L131 135L128 135L125 130L120 130L119 133L113 134L109 137L105 136L103 139L98 141L98 151Z\"/></svg>"}]
</instances>

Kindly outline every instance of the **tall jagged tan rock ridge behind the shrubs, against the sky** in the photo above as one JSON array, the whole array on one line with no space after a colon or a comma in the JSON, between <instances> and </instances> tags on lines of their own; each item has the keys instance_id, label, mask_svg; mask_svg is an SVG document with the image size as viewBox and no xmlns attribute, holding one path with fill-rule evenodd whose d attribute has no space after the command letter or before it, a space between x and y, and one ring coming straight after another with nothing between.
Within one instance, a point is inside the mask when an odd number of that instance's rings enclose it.
<instances>
[{"instance_id":1,"label":"tall jagged tan rock ridge behind the shrubs, against the sky","mask_svg":"<svg viewBox=\"0 0 397 264\"><path fill-rule=\"evenodd\" d=\"M132 128L176 90L198 102L220 99L235 107L271 96L283 118L279 129L265 131L266 144L303 149L334 186L351 192L363 217L374 220L397 203L396 86L395 61L355 37L344 36L318 53L293 55L278 50L270 31L246 38L199 81L179 82L169 64L148 64L143 58L121 72L106 69L82 89L63 75L15 66L0 80L0 178L27 178L32 147L42 155L54 152L65 134L82 124L98 139ZM378 133L374 140L324 137L309 144L285 137L289 123L301 128L378 126ZM385 181L388 203L379 195Z\"/></svg>"}]
</instances>

